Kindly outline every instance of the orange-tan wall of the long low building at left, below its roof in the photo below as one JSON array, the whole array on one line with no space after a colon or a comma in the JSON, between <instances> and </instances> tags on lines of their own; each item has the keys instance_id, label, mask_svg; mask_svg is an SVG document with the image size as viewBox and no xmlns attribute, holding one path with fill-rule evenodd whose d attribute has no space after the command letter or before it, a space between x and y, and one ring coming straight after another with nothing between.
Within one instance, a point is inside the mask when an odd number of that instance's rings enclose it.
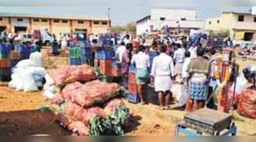
<instances>
[{"instance_id":1,"label":"orange-tan wall of the long low building at left, below its roof","mask_svg":"<svg viewBox=\"0 0 256 142\"><path fill-rule=\"evenodd\" d=\"M15 24L23 24L22 27L27 28L27 32L33 32L34 30L40 29L48 29L50 32L58 35L61 33L68 33L71 30L75 31L76 29L86 29L87 32L99 34L106 33L108 29L111 27L111 22L109 21L91 21L91 20L81 20L83 24L79 24L80 20L67 20L67 23L63 22L66 19L49 19L49 18L22 18L22 17L1 17L0 26L5 26L8 31L15 32L14 25ZM22 22L17 22L17 18L22 18ZM10 22L9 22L10 19ZM45 19L47 22L43 22ZM35 21L39 20L39 21ZM59 20L59 22L54 22L54 20ZM72 21L72 22L71 22ZM99 22L99 24L95 24L94 22ZM26 25L24 25L24 23ZM106 24L104 24L106 23Z\"/></svg>"}]
</instances>

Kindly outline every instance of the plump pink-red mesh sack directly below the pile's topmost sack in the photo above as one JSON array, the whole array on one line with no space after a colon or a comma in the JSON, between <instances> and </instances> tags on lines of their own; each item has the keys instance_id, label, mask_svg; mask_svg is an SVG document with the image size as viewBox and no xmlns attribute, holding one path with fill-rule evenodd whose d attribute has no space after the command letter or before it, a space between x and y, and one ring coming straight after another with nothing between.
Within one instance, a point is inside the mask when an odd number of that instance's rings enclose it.
<instances>
[{"instance_id":1,"label":"plump pink-red mesh sack directly below the pile's topmost sack","mask_svg":"<svg viewBox=\"0 0 256 142\"><path fill-rule=\"evenodd\" d=\"M96 103L104 103L108 99L117 96L120 86L117 83L106 83L95 80L87 82L82 87L76 83L77 89L63 89L62 94L68 99L83 107L90 107Z\"/></svg>"}]
</instances>

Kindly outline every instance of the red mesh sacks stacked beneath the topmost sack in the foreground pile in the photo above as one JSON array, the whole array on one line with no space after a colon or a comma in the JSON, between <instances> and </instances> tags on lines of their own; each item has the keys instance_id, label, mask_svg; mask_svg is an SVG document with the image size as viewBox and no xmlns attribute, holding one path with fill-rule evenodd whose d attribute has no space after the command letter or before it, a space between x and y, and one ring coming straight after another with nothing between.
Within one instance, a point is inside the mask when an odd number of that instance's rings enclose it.
<instances>
[{"instance_id":1,"label":"red mesh sacks stacked beneath the topmost sack in the foreground pile","mask_svg":"<svg viewBox=\"0 0 256 142\"><path fill-rule=\"evenodd\" d=\"M124 106L120 99L113 99L118 94L120 86L116 83L106 83L95 80L84 85L75 82L68 84L61 96L56 97L52 106L56 110L56 120L69 131L79 135L88 135L90 119L94 117L107 117L115 108ZM65 102L61 104L61 102ZM97 106L104 103L104 108Z\"/></svg>"}]
</instances>

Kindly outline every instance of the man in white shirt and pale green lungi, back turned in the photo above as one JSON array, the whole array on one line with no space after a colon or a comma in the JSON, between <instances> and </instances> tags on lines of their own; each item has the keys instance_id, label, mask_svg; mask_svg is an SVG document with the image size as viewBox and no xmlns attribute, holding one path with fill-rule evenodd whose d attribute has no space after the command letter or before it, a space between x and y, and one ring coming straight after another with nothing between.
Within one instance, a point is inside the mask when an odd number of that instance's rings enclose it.
<instances>
[{"instance_id":1,"label":"man in white shirt and pale green lungi, back turned","mask_svg":"<svg viewBox=\"0 0 256 142\"><path fill-rule=\"evenodd\" d=\"M138 84L138 94L142 104L145 104L143 100L143 87L149 81L148 67L150 67L149 57L145 53L145 46L139 46L139 53L132 57L132 64L136 65L136 82Z\"/></svg>"}]
</instances>

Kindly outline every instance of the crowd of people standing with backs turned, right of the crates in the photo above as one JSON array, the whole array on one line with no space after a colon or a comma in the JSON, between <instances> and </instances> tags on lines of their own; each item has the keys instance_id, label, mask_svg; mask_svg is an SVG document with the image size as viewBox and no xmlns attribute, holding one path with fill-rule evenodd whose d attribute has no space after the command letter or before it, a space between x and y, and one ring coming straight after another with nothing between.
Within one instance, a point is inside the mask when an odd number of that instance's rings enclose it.
<instances>
[{"instance_id":1,"label":"crowd of people standing with backs turned, right of the crates","mask_svg":"<svg viewBox=\"0 0 256 142\"><path fill-rule=\"evenodd\" d=\"M219 48L204 48L201 44L188 45L184 41L161 40L154 38L152 45L147 45L145 39L139 39L139 43L131 42L129 36L125 36L121 45L116 50L117 60L122 62L123 85L127 87L129 66L136 66L136 80L138 84L138 96L141 104L147 104L143 87L148 83L154 85L157 94L159 108L170 108L172 99L172 84L179 82L188 88L189 99L186 104L187 111L195 111L204 107L207 100L207 75L211 60L216 59L216 54L221 53ZM150 68L149 53L157 52L157 57Z\"/></svg>"}]
</instances>

